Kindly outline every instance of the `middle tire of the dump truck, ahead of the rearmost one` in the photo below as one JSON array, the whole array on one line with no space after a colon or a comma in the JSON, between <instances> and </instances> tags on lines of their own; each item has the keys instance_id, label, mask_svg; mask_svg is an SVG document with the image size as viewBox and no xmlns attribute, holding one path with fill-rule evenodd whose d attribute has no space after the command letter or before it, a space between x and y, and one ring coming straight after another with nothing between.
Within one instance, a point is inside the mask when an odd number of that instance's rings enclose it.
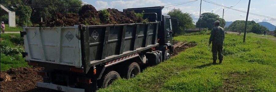
<instances>
[{"instance_id":1,"label":"middle tire of the dump truck, ahead of the rearmost one","mask_svg":"<svg viewBox=\"0 0 276 92\"><path fill-rule=\"evenodd\" d=\"M126 79L131 79L140 73L140 66L138 63L133 62L127 68Z\"/></svg>"}]
</instances>

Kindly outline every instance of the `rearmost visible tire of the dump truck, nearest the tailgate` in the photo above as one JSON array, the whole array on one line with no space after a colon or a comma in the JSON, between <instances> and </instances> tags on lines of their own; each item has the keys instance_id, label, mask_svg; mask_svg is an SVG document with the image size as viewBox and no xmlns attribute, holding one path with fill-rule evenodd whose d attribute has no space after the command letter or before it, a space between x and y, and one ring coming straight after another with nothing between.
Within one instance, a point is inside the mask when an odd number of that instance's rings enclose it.
<instances>
[{"instance_id":1,"label":"rearmost visible tire of the dump truck, nearest the tailgate","mask_svg":"<svg viewBox=\"0 0 276 92\"><path fill-rule=\"evenodd\" d=\"M102 88L106 88L109 84L118 78L120 78L120 75L116 71L108 72L103 78Z\"/></svg>"}]
</instances>

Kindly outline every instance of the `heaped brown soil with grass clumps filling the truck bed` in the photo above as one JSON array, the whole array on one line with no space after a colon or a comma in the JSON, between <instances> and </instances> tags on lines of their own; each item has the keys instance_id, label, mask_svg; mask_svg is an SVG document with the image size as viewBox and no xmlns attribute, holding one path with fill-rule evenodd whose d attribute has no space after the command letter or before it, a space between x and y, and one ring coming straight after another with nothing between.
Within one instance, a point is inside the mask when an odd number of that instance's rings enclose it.
<instances>
[{"instance_id":1,"label":"heaped brown soil with grass clumps filling the truck bed","mask_svg":"<svg viewBox=\"0 0 276 92\"><path fill-rule=\"evenodd\" d=\"M40 25L58 27L74 25L109 25L141 23L142 17L136 16L133 11L121 12L117 9L105 9L97 11L92 5L84 5L79 9L79 14L56 13L50 20L41 22Z\"/></svg>"}]
</instances>

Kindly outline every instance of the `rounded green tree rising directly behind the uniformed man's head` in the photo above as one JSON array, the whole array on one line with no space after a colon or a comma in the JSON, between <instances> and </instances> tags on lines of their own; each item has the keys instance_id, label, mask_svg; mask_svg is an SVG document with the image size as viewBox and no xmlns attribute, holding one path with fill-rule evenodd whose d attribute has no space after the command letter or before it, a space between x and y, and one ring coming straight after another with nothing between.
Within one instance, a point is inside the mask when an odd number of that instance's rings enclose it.
<instances>
[{"instance_id":1,"label":"rounded green tree rising directly behind the uniformed man's head","mask_svg":"<svg viewBox=\"0 0 276 92\"><path fill-rule=\"evenodd\" d=\"M220 21L220 26L225 25L225 21L222 21L222 18L219 18L219 15L215 13L202 13L201 14L201 28L208 28L211 30L214 27L214 22ZM196 27L199 27L199 19L196 23Z\"/></svg>"}]
</instances>

